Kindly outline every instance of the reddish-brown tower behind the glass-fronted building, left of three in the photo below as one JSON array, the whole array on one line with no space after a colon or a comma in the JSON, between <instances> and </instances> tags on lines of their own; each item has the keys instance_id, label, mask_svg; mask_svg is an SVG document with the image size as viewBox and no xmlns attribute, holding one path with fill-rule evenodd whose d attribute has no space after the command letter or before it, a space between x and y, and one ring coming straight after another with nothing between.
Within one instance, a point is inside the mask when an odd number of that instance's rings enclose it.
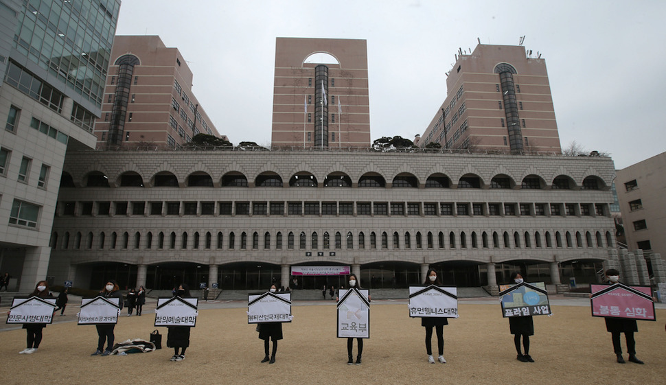
<instances>
[{"instance_id":1,"label":"reddish-brown tower behind the glass-fronted building, left of three","mask_svg":"<svg viewBox=\"0 0 666 385\"><path fill-rule=\"evenodd\" d=\"M97 148L174 148L198 133L219 136L192 93L192 71L179 50L159 36L116 36Z\"/></svg>"}]
</instances>

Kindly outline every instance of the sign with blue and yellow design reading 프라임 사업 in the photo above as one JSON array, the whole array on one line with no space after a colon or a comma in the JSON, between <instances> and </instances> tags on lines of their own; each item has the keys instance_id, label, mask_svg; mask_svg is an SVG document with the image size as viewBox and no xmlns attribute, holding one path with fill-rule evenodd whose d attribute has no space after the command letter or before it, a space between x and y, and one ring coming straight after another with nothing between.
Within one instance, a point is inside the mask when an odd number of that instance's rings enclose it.
<instances>
[{"instance_id":1,"label":"sign with blue and yellow design reading \ud504\ub77c\uc784 \uc0ac\uc5c5","mask_svg":"<svg viewBox=\"0 0 666 385\"><path fill-rule=\"evenodd\" d=\"M547 316L551 314L546 284L543 282L500 285L503 317Z\"/></svg>"}]
</instances>

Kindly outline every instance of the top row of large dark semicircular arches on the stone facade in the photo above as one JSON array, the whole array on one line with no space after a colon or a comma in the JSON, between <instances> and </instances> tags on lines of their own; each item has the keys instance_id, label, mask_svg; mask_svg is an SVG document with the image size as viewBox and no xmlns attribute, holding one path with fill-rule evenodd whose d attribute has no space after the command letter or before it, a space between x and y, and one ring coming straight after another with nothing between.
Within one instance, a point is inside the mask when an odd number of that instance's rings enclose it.
<instances>
[{"instance_id":1,"label":"top row of large dark semicircular arches on the stone facade","mask_svg":"<svg viewBox=\"0 0 666 385\"><path fill-rule=\"evenodd\" d=\"M86 174L80 184L84 187L146 187L143 177L135 171L128 171L120 174L112 183L108 176L100 171L93 171ZM352 182L352 178L343 172L333 172L328 174L323 180L323 187L387 187L387 179L377 172L367 172ZM320 181L310 172L297 172L288 179L289 187L319 187ZM203 171L193 172L185 177L187 187L249 187L249 179L241 172L227 172L219 180L214 180L209 174ZM285 183L276 172L262 172L255 176L253 180L255 187L284 187ZM71 174L63 172L60 187L76 187ZM181 183L175 174L168 171L161 171L150 177L150 187L180 187ZM402 172L391 180L391 187L404 188L491 188L491 189L607 189L608 186L602 178L595 175L588 175L582 180L576 181L571 176L560 174L547 182L542 176L529 174L519 182L507 174L496 174L490 178L490 183L483 180L477 174L464 174L456 183L446 174L435 173L426 178L425 183L419 180L417 176L409 172Z\"/></svg>"}]
</instances>

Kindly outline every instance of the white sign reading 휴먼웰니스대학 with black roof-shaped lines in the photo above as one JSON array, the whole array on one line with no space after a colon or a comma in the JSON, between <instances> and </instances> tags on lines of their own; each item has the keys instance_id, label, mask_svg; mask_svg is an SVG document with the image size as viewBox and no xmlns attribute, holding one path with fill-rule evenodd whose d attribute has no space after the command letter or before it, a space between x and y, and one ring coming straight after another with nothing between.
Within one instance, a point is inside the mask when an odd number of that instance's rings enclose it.
<instances>
[{"instance_id":1,"label":"white sign reading \ud734\uba3c\uc6f0\ub2c8\uc2a4\ub300\ud559 with black roof-shaped lines","mask_svg":"<svg viewBox=\"0 0 666 385\"><path fill-rule=\"evenodd\" d=\"M409 316L458 318L458 289L409 286Z\"/></svg>"}]
</instances>

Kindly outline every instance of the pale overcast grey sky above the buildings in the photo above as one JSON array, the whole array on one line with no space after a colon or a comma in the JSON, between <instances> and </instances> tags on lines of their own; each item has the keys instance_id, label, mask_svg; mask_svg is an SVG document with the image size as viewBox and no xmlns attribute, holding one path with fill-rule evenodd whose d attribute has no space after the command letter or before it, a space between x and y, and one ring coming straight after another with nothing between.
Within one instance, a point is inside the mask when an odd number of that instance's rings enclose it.
<instances>
[{"instance_id":1,"label":"pale overcast grey sky above the buildings","mask_svg":"<svg viewBox=\"0 0 666 385\"><path fill-rule=\"evenodd\" d=\"M260 145L277 37L367 40L371 140L413 140L444 102L459 48L525 36L546 61L562 148L607 152L622 169L666 151L665 16L661 0L124 0L117 34L178 48L218 132Z\"/></svg>"}]
</instances>

